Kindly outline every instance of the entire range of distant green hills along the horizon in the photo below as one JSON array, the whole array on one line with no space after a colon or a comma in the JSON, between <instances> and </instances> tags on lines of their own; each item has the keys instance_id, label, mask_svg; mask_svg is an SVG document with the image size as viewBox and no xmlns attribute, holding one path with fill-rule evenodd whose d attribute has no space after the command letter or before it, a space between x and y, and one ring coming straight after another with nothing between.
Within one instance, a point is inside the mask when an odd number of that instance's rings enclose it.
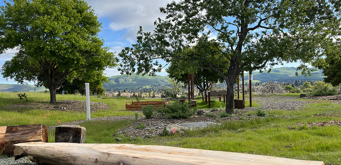
<instances>
[{"instance_id":1,"label":"entire range of distant green hills along the horizon","mask_svg":"<svg viewBox=\"0 0 341 165\"><path fill-rule=\"evenodd\" d=\"M273 68L270 73L264 71L263 73L253 72L253 83L255 82L267 82L267 81L281 81L281 82L290 82L294 80L323 80L324 76L322 74L322 70L317 70L312 72L312 76L308 76L305 78L303 75L295 76L296 68L295 67L281 67L281 68ZM298 71L300 74L300 71ZM248 73L244 75L245 80L249 80ZM132 74L129 75L118 75L109 77L109 83L104 83L103 86L106 90L110 89L125 89L125 88L136 88L136 87L150 87L152 85L165 85L168 83L168 76L141 76ZM34 85L18 85L18 84L0 84L0 91L17 91L17 92L26 92L34 91ZM44 87L36 87L36 92L43 92L48 90Z\"/></svg>"}]
</instances>

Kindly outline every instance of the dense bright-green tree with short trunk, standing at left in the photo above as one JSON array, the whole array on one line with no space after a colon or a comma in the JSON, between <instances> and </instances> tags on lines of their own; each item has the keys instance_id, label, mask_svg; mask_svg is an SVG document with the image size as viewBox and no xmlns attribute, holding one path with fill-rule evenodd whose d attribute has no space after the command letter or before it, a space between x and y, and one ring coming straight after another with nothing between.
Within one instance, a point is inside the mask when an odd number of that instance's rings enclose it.
<instances>
[{"instance_id":1,"label":"dense bright-green tree with short trunk, standing at left","mask_svg":"<svg viewBox=\"0 0 341 165\"><path fill-rule=\"evenodd\" d=\"M0 52L16 50L1 74L21 84L43 85L51 103L65 79L102 83L104 69L116 65L98 37L97 15L83 0L12 0L0 10Z\"/></svg>"}]
</instances>

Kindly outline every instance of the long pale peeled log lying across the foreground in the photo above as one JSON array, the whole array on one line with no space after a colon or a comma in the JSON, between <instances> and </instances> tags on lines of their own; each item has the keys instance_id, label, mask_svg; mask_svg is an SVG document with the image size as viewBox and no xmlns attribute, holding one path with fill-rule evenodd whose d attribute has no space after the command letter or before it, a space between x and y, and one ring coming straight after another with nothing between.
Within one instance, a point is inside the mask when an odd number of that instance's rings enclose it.
<instances>
[{"instance_id":1,"label":"long pale peeled log lying across the foreground","mask_svg":"<svg viewBox=\"0 0 341 165\"><path fill-rule=\"evenodd\" d=\"M15 159L33 156L40 165L324 165L273 156L134 144L32 142L16 144L14 152Z\"/></svg>"}]
</instances>

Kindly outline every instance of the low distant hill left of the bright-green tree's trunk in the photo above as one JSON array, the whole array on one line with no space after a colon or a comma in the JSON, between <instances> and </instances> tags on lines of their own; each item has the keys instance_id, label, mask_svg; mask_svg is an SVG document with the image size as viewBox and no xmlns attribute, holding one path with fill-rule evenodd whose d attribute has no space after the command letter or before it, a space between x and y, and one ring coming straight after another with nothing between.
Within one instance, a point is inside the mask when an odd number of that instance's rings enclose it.
<instances>
[{"instance_id":1,"label":"low distant hill left of the bright-green tree's trunk","mask_svg":"<svg viewBox=\"0 0 341 165\"><path fill-rule=\"evenodd\" d=\"M44 92L46 89L45 87L36 87L34 85L20 85L20 84L0 84L0 92Z\"/></svg>"}]
</instances>

